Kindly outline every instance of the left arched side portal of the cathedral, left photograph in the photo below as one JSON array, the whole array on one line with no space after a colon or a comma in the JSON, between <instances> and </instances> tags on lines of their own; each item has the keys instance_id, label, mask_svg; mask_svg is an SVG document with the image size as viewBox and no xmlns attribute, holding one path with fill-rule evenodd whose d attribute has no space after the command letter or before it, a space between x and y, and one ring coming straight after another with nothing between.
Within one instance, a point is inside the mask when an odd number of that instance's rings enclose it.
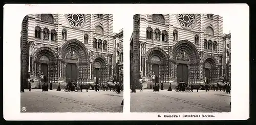
<instances>
[{"instance_id":1,"label":"left arched side portal of the cathedral, left photograph","mask_svg":"<svg viewBox=\"0 0 256 125\"><path fill-rule=\"evenodd\" d=\"M57 70L57 54L49 47L41 47L35 52L35 61L32 65L36 76L41 77L41 82L55 82Z\"/></svg>"}]
</instances>

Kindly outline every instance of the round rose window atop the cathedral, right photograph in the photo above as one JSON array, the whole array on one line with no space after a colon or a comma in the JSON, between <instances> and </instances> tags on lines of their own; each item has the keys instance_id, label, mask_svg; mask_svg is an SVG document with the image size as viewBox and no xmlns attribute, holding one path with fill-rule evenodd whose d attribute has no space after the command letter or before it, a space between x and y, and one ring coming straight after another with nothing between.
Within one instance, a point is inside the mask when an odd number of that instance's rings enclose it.
<instances>
[{"instance_id":1,"label":"round rose window atop the cathedral, right photograph","mask_svg":"<svg viewBox=\"0 0 256 125\"><path fill-rule=\"evenodd\" d=\"M177 14L177 20L183 28L191 29L196 24L194 14Z\"/></svg>"}]
</instances>

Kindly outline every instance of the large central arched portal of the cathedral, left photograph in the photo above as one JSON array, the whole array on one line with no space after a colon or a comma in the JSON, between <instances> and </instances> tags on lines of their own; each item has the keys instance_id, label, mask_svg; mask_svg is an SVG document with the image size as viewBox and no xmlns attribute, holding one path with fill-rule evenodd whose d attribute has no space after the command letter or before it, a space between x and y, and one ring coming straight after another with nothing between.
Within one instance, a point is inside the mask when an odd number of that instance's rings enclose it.
<instances>
[{"instance_id":1,"label":"large central arched portal of the cathedral, left photograph","mask_svg":"<svg viewBox=\"0 0 256 125\"><path fill-rule=\"evenodd\" d=\"M90 81L90 56L86 46L76 40L69 40L62 45L61 63L62 76L66 78L66 82L74 81L79 84L84 84ZM77 78L77 79L76 79Z\"/></svg>"}]
</instances>

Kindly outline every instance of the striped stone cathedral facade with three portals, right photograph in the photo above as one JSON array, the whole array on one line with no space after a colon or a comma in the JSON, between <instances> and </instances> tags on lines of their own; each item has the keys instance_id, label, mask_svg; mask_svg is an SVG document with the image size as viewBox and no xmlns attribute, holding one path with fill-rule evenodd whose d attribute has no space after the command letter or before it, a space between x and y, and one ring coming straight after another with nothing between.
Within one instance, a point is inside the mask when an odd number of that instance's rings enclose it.
<instances>
[{"instance_id":1,"label":"striped stone cathedral facade with three portals, right photograph","mask_svg":"<svg viewBox=\"0 0 256 125\"><path fill-rule=\"evenodd\" d=\"M134 15L131 85L139 86L141 79L147 88L152 82L165 88L217 83L223 72L222 24L214 14Z\"/></svg>"}]
</instances>

